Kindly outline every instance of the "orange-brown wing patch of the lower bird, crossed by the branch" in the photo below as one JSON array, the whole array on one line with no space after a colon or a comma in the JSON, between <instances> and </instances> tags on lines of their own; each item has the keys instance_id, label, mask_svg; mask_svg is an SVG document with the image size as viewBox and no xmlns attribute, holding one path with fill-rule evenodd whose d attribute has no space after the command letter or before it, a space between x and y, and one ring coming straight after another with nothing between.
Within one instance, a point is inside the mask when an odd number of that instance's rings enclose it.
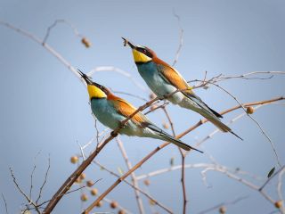
<instances>
[{"instance_id":1,"label":"orange-brown wing patch of the lower bird, crossed by the branch","mask_svg":"<svg viewBox=\"0 0 285 214\"><path fill-rule=\"evenodd\" d=\"M126 100L121 99L117 96L112 95L111 97L108 97L108 100L110 100L113 103L114 108L118 113L125 116L126 118L129 117L134 111L137 109L132 105L131 103L128 103ZM149 119L147 119L141 111L137 112L134 117L131 119L135 124L145 127L147 124L150 124L151 122Z\"/></svg>"}]
</instances>

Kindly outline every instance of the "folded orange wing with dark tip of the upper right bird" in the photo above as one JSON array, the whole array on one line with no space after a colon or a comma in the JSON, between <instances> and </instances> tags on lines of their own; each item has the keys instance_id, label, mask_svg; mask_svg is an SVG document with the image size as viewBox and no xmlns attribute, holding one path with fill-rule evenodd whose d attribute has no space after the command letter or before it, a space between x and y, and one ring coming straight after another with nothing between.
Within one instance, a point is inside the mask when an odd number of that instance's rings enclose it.
<instances>
[{"instance_id":1,"label":"folded orange wing with dark tip of the upper right bird","mask_svg":"<svg viewBox=\"0 0 285 214\"><path fill-rule=\"evenodd\" d=\"M223 118L218 112L212 110L206 103L204 103L198 95L192 91L192 87L187 83L187 81L182 77L182 75L168 65L166 62L160 61L157 62L159 74L172 86L175 86L177 89L181 90L183 95L187 96L191 101L197 103L200 108L205 109L218 118Z\"/></svg>"}]
</instances>

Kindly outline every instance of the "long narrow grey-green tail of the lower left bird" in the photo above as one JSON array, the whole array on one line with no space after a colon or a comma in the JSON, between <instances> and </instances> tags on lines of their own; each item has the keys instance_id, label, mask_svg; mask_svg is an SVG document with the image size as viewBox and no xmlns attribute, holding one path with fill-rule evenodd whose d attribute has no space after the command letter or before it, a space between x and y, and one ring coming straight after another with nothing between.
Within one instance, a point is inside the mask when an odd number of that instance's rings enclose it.
<instances>
[{"instance_id":1,"label":"long narrow grey-green tail of the lower left bird","mask_svg":"<svg viewBox=\"0 0 285 214\"><path fill-rule=\"evenodd\" d=\"M153 124L149 124L148 128L151 128L152 131L154 131L157 135L159 135L160 139L163 139L163 140L166 140L167 142L175 144L178 147L182 148L183 150L186 150L186 151L195 150L197 152L203 153L199 149L196 149L196 148L192 147L191 145L184 144L182 141L175 139L175 137L170 136L169 134L167 134L167 132L163 131L161 128L158 128L157 126L155 126Z\"/></svg>"}]
</instances>

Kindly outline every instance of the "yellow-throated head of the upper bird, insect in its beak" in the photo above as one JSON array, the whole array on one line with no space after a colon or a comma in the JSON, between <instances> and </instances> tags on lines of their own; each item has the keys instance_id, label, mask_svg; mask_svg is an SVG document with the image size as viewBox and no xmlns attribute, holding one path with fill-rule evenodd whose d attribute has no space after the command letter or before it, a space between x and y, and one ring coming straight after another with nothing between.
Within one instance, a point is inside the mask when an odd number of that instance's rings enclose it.
<instances>
[{"instance_id":1,"label":"yellow-throated head of the upper bird, insect in its beak","mask_svg":"<svg viewBox=\"0 0 285 214\"><path fill-rule=\"evenodd\" d=\"M156 54L150 48L141 45L134 45L126 38L122 38L124 40L124 45L129 45L132 48L135 63L151 62L153 57L156 57Z\"/></svg>"}]
</instances>

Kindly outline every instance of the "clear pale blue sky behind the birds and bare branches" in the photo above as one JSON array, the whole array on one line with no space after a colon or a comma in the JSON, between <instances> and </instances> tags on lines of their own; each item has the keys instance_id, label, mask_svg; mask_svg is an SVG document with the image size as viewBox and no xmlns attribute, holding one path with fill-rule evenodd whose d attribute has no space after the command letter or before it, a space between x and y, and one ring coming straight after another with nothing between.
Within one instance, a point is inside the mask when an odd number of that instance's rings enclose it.
<instances>
[{"instance_id":1,"label":"clear pale blue sky behind the birds and bare branches","mask_svg":"<svg viewBox=\"0 0 285 214\"><path fill-rule=\"evenodd\" d=\"M174 10L180 16L180 23L173 14ZM121 37L129 38L134 44L151 47L161 59L172 63L179 45L179 24L184 30L184 44L175 68L187 80L204 78L205 70L209 78L221 73L240 75L257 70L285 70L285 2L282 0L0 0L0 21L26 29L37 37L45 37L46 29L57 19L69 21L92 42L91 48L86 49L66 24L60 23L53 29L47 43L75 68L87 72L98 66L115 66L129 72L145 88L131 51L123 46ZM9 168L13 169L20 186L28 192L30 174L36 164L33 196L37 197L50 155L51 169L43 200L50 199L76 169L69 158L80 152L78 144L86 144L94 136L94 118L85 87L67 67L28 37L2 25L0 35L0 192L4 193L9 213L20 213L24 199L12 184ZM150 94L149 89L142 90L118 73L98 72L94 74L94 80L113 91L132 93L146 99ZM280 75L267 80L231 79L220 85L240 102L246 103L284 95L285 78ZM215 86L208 90L197 89L196 93L216 111L237 104ZM128 95L120 96L135 106L144 103ZM201 119L199 114L174 105L169 105L168 110L176 133L183 132ZM228 122L241 112L234 111L224 116L223 121ZM162 111L156 111L149 117L159 127L167 121ZM284 105L265 106L253 117L272 138L281 164L284 164ZM232 169L244 169L261 177L266 177L273 166L277 167L271 145L251 119L244 117L230 127L244 141L230 134L218 133L200 149L211 154L220 164ZM99 125L99 129L104 127ZM183 141L193 145L215 129L212 124L205 124L184 136ZM170 133L170 130L167 131ZM162 143L138 137L121 136L121 139L133 164ZM92 144L89 151L94 146ZM174 145L157 153L136 174L167 168L171 158L174 158L175 164L180 164L180 155ZM115 172L118 168L126 171L115 141L111 141L96 160ZM192 152L186 162L210 161L208 155ZM208 172L208 184L211 185L208 188L202 182L201 170L186 170L189 213L198 213L243 196L248 198L229 206L229 213L269 213L274 210L272 204L260 194L221 173ZM93 180L102 178L95 185L100 192L116 179L96 166L87 169L86 175ZM268 185L266 190L277 200L275 184ZM175 213L181 213L183 197L179 170L151 177L149 188L142 181L140 186ZM65 196L54 213L79 213L82 206L80 194L79 191ZM84 207L93 202L94 197L89 197ZM119 185L108 198L137 213L134 191L127 185ZM145 210L151 213L148 200L142 198ZM0 212L4 213L4 202L0 204ZM157 207L152 209L164 213ZM99 210L111 211L106 203Z\"/></svg>"}]
</instances>

